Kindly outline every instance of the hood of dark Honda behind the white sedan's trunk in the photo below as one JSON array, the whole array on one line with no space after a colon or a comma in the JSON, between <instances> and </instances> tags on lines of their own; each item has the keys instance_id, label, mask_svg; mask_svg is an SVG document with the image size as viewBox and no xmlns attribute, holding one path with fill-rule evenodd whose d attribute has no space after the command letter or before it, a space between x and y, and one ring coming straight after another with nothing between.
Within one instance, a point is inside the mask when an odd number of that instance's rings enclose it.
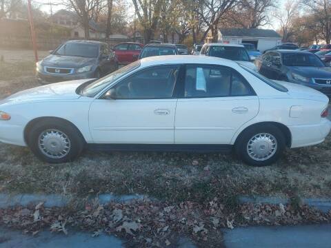
<instances>
[{"instance_id":1,"label":"hood of dark Honda behind the white sedan's trunk","mask_svg":"<svg viewBox=\"0 0 331 248\"><path fill-rule=\"evenodd\" d=\"M314 79L331 79L330 67L288 66L288 68L301 76Z\"/></svg>"}]
</instances>

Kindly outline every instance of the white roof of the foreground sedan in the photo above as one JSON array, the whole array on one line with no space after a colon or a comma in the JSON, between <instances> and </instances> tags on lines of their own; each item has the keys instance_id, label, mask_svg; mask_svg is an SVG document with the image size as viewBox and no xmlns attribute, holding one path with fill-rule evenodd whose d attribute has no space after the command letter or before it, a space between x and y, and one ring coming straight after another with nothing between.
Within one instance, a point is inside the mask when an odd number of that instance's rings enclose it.
<instances>
[{"instance_id":1,"label":"white roof of the foreground sedan","mask_svg":"<svg viewBox=\"0 0 331 248\"><path fill-rule=\"evenodd\" d=\"M210 65L230 65L239 66L236 62L228 59L221 59L214 56L196 56L196 55L163 55L150 56L141 59L141 66L148 67L151 65L164 64L210 64Z\"/></svg>"}]
</instances>

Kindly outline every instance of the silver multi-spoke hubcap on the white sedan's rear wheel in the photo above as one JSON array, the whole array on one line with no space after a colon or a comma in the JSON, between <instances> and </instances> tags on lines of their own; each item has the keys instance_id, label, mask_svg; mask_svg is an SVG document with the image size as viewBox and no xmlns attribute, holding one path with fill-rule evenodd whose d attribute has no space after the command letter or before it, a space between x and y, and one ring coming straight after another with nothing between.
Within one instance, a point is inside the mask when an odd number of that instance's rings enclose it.
<instances>
[{"instance_id":1,"label":"silver multi-spoke hubcap on the white sedan's rear wheel","mask_svg":"<svg viewBox=\"0 0 331 248\"><path fill-rule=\"evenodd\" d=\"M247 144L247 153L254 161L265 161L277 152L277 139L273 135L254 135Z\"/></svg>"}]
</instances>

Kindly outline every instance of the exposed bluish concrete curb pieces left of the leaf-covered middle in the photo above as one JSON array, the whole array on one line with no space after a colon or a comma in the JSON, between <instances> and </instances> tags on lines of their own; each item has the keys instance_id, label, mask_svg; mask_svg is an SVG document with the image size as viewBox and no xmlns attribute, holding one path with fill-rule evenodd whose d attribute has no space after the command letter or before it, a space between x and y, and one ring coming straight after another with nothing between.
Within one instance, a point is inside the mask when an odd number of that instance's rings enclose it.
<instances>
[{"instance_id":1,"label":"exposed bluish concrete curb pieces left of the leaf-covered middle","mask_svg":"<svg viewBox=\"0 0 331 248\"><path fill-rule=\"evenodd\" d=\"M148 198L143 195L123 195L115 196L113 194L100 194L95 196L98 198L100 204L107 204L110 202L124 203L130 200L143 200ZM91 197L90 200L94 200ZM65 207L70 202L70 199L59 194L0 194L0 208L14 207L15 205L27 206L30 203L38 204L44 203L45 207Z\"/></svg>"}]
</instances>

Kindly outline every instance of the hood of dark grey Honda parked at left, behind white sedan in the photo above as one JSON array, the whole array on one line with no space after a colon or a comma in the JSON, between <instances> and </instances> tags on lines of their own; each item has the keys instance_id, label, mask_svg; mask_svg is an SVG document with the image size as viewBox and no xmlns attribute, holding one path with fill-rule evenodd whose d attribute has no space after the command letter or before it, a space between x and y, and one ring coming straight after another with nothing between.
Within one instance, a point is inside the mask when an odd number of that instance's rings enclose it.
<instances>
[{"instance_id":1,"label":"hood of dark grey Honda parked at left, behind white sedan","mask_svg":"<svg viewBox=\"0 0 331 248\"><path fill-rule=\"evenodd\" d=\"M95 58L85 58L80 56L60 56L60 55L48 55L41 65L51 66L54 68L81 68L85 65L96 63Z\"/></svg>"}]
</instances>

